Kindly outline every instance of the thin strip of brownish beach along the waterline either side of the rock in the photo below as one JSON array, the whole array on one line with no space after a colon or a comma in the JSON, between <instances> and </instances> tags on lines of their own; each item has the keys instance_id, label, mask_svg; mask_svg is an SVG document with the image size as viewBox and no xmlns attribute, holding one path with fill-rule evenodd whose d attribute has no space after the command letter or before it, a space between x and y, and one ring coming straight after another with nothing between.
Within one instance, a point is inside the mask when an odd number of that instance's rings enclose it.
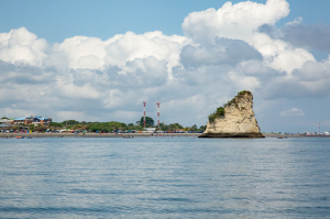
<instances>
[{"instance_id":1,"label":"thin strip of brownish beach along the waterline either side of the rock","mask_svg":"<svg viewBox=\"0 0 330 219\"><path fill-rule=\"evenodd\" d=\"M16 138L16 136L24 136L24 138L164 138L164 136L199 136L201 133L0 133L0 138ZM265 138L330 138L330 135L299 135L299 134L273 134L273 133L263 133ZM235 139L235 138L233 138Z\"/></svg>"}]
</instances>

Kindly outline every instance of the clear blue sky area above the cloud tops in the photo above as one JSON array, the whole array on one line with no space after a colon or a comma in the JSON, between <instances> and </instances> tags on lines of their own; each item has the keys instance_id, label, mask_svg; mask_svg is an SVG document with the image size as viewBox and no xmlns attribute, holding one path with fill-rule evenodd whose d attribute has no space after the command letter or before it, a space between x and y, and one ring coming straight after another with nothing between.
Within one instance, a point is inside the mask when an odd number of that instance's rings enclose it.
<instances>
[{"instance_id":1,"label":"clear blue sky area above the cloud tops","mask_svg":"<svg viewBox=\"0 0 330 219\"><path fill-rule=\"evenodd\" d=\"M145 33L162 31L164 34L183 35L182 22L188 13L209 8L221 8L223 0L189 1L86 1L86 0L1 0L1 32L25 26L48 42L62 42L74 35L107 40L114 34L132 31ZM241 2L240 0L232 1ZM266 0L254 2L265 3ZM304 23L330 23L330 1L288 0L290 13L278 22L284 25L297 17Z\"/></svg>"}]
</instances>

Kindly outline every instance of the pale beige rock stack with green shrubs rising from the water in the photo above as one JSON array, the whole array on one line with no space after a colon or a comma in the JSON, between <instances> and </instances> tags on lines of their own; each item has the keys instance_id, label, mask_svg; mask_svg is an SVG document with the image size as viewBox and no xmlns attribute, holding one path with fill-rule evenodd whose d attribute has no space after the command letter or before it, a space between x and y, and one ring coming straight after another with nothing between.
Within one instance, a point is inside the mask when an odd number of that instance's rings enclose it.
<instances>
[{"instance_id":1,"label":"pale beige rock stack with green shrubs rising from the water","mask_svg":"<svg viewBox=\"0 0 330 219\"><path fill-rule=\"evenodd\" d=\"M224 107L224 114L209 121L206 131L199 138L264 138L252 107L252 94L239 92Z\"/></svg>"}]
</instances>

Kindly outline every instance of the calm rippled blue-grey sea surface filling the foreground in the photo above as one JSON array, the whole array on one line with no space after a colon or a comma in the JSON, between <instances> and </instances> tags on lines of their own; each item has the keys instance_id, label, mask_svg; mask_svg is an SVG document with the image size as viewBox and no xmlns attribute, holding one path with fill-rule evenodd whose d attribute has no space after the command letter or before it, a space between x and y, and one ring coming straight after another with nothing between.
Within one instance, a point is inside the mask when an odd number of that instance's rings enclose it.
<instances>
[{"instance_id":1,"label":"calm rippled blue-grey sea surface filling the foreground","mask_svg":"<svg viewBox=\"0 0 330 219\"><path fill-rule=\"evenodd\" d=\"M330 218L330 138L0 139L0 218Z\"/></svg>"}]
</instances>

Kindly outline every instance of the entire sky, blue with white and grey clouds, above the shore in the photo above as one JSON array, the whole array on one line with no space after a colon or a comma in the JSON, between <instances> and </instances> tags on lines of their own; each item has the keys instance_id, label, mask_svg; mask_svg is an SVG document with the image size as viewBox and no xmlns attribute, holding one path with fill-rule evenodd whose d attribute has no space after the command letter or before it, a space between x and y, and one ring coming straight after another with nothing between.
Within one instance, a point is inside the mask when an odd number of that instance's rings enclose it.
<instances>
[{"instance_id":1,"label":"entire sky, blue with white and grey clouds, above the shore","mask_svg":"<svg viewBox=\"0 0 330 219\"><path fill-rule=\"evenodd\" d=\"M330 130L330 1L0 0L0 116L184 127L239 91L262 132Z\"/></svg>"}]
</instances>

